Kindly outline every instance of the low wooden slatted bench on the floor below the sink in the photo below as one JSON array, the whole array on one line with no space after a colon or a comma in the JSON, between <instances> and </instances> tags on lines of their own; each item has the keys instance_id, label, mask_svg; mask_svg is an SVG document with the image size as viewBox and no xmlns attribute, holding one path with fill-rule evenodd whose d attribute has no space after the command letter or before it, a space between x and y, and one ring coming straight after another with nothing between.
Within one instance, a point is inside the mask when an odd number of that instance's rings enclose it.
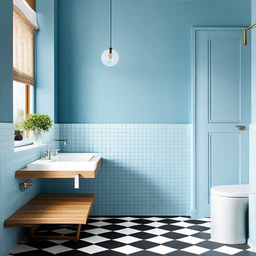
<instances>
[{"instance_id":1,"label":"low wooden slatted bench on the floor below the sink","mask_svg":"<svg viewBox=\"0 0 256 256\"><path fill-rule=\"evenodd\" d=\"M78 241L86 224L94 194L39 194L5 220L4 227L30 227L30 238ZM76 236L40 236L35 231L42 224L77 224Z\"/></svg>"}]
</instances>

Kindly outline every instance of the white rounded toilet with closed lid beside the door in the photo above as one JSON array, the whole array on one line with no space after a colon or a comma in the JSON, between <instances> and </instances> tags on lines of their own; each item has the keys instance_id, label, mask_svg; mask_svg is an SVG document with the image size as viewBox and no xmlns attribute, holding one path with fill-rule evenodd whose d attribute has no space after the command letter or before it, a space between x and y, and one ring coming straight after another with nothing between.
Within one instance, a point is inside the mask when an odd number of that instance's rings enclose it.
<instances>
[{"instance_id":1,"label":"white rounded toilet with closed lid beside the door","mask_svg":"<svg viewBox=\"0 0 256 256\"><path fill-rule=\"evenodd\" d=\"M248 197L255 185L211 188L211 239L223 244L244 244L248 238Z\"/></svg>"}]
</instances>

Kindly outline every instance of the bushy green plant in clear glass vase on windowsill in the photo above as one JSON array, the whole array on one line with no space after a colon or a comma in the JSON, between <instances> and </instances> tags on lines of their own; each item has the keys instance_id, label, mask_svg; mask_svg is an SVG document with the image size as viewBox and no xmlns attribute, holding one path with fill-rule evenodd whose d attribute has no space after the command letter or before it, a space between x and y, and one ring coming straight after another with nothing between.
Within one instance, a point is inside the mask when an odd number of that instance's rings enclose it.
<instances>
[{"instance_id":1,"label":"bushy green plant in clear glass vase on windowsill","mask_svg":"<svg viewBox=\"0 0 256 256\"><path fill-rule=\"evenodd\" d=\"M33 131L34 144L42 144L41 131L49 132L52 120L48 115L34 113L27 115L21 125L24 131Z\"/></svg>"}]
</instances>

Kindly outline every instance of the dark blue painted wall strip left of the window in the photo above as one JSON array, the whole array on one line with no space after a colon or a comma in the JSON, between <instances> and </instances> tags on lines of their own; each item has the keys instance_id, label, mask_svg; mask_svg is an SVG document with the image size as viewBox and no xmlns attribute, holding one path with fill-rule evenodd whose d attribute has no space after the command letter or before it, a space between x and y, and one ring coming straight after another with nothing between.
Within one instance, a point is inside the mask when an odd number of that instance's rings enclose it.
<instances>
[{"instance_id":1,"label":"dark blue painted wall strip left of the window","mask_svg":"<svg viewBox=\"0 0 256 256\"><path fill-rule=\"evenodd\" d=\"M0 1L0 122L12 122L12 1Z\"/></svg>"}]
</instances>

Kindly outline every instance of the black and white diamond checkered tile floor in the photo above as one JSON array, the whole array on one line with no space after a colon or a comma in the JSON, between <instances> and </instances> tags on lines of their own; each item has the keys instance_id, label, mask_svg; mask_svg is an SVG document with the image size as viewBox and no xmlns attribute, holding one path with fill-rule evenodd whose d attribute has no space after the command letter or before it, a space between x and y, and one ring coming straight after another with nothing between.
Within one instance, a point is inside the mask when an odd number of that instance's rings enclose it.
<instances>
[{"instance_id":1,"label":"black and white diamond checkered tile floor","mask_svg":"<svg viewBox=\"0 0 256 256\"><path fill-rule=\"evenodd\" d=\"M75 235L76 225L42 225L41 235ZM187 216L92 217L78 243L63 240L18 243L15 256L256 256L247 244L226 245L210 239L210 219Z\"/></svg>"}]
</instances>

